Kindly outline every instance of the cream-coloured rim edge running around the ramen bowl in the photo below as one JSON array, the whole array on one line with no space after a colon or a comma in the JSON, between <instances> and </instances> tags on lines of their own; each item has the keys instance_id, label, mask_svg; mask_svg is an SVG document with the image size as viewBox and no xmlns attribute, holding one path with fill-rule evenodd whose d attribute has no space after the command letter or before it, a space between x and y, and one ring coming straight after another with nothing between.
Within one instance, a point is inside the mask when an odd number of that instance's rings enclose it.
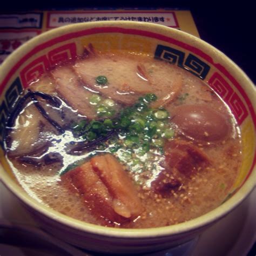
<instances>
[{"instance_id":1,"label":"cream-coloured rim edge running around the ramen bowl","mask_svg":"<svg viewBox=\"0 0 256 256\"><path fill-rule=\"evenodd\" d=\"M46 31L36 36L35 38L32 38L30 41L24 43L18 49L12 52L11 55L8 56L4 60L3 64L0 66L0 73L5 73L4 71L9 69L8 63L11 63L12 60L17 59L17 56L22 56L23 50L25 52L29 52L35 44L38 44L39 42L42 42L42 41L43 42L49 41L50 40L49 38L55 37L57 31L60 32L60 34L58 35L60 36L60 35L65 35L65 33L70 33L71 31L86 30L89 28L97 28L97 27L104 27L104 26L112 26L112 27L117 26L117 27L124 27L124 28L126 27L129 28L130 26L134 26L134 28L138 30L143 29L146 31L147 30L152 31L153 29L155 29L156 33L160 33L160 31L163 31L161 33L164 33L164 31L172 31L172 33L174 34L176 33L181 37L188 37L193 42L196 42L199 45L209 49L209 51L211 52L214 51L215 54L219 55L220 58L223 58L227 63L229 63L232 69L234 69L236 72L239 72L239 75L242 76L242 78L245 80L244 83L248 84L248 86L249 85L251 86L250 87L251 92L256 95L255 87L252 81L250 80L250 78L247 77L244 71L242 71L237 64L235 64L223 52L214 48L214 46L184 31L179 31L177 29L169 28L164 25L149 24L149 23L143 23L143 22L131 22L131 21L129 22L124 22L124 21L90 22L90 23L81 23L81 24L70 24L70 25L66 25L66 26L62 26L59 28ZM255 105L254 105L254 111L255 111ZM165 237L166 235L169 236L169 235L176 235L176 234L184 234L187 232L199 230L200 228L213 224L218 219L225 217L225 215L228 214L230 211L232 211L233 208L237 207L241 203L241 201L244 200L248 196L248 194L250 194L253 188L256 186L255 156L254 156L254 162L251 168L252 170L251 170L249 179L244 181L244 184L241 185L241 187L239 188L239 191L237 191L230 199L225 201L223 204L221 204L217 208L214 208L214 210L180 224L175 224L175 225L165 226L165 227L134 228L134 229L104 227L104 226L99 226L95 224L85 223L83 221L73 219L62 213L52 210L51 208L45 205L42 205L41 203L36 201L36 199L33 199L28 194L26 194L25 191L23 191L23 189L14 180L11 179L9 174L3 170L3 167L1 165L0 165L0 180L2 180L3 184L12 193L14 193L15 196L18 197L18 199L23 201L23 203L31 207L33 210L50 218L51 220L55 220L58 223L63 224L64 226L69 226L71 228L75 228L76 230L79 230L82 232L97 234L104 237L130 238L130 239L157 238L157 237Z\"/></svg>"}]
</instances>

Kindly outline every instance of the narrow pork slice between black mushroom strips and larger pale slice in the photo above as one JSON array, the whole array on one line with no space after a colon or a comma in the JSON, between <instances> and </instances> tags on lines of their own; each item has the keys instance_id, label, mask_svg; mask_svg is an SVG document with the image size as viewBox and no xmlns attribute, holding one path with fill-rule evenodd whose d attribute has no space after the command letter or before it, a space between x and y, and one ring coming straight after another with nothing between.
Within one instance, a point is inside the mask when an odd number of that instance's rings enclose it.
<instances>
[{"instance_id":1,"label":"narrow pork slice between black mushroom strips and larger pale slice","mask_svg":"<svg viewBox=\"0 0 256 256\"><path fill-rule=\"evenodd\" d=\"M80 83L78 76L72 70L72 66L59 66L51 73L56 82L55 89L58 95L73 110L89 119L97 118L95 107L89 102L92 92Z\"/></svg>"}]
</instances>

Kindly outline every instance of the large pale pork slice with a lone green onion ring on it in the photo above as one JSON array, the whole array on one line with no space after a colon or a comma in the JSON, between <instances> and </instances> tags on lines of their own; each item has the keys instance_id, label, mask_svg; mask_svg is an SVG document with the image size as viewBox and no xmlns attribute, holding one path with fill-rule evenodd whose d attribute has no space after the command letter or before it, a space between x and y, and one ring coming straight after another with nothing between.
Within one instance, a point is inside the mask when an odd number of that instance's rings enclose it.
<instances>
[{"instance_id":1,"label":"large pale pork slice with a lone green onion ring on it","mask_svg":"<svg viewBox=\"0 0 256 256\"><path fill-rule=\"evenodd\" d=\"M153 107L171 102L181 89L179 72L168 63L156 66L153 60L140 58L142 63L127 56L95 55L78 60L73 68L87 86L118 102L131 105L150 92L158 97ZM98 76L105 76L107 83L98 84Z\"/></svg>"}]
</instances>

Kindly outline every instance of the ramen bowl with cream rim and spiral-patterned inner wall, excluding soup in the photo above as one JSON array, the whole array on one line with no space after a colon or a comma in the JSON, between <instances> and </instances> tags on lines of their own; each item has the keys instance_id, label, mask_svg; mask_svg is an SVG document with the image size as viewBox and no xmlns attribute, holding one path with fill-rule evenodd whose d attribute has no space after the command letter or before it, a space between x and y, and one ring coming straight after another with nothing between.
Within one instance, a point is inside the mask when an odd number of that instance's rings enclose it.
<instances>
[{"instance_id":1,"label":"ramen bowl with cream rim and spiral-patterned inner wall, excluding soup","mask_svg":"<svg viewBox=\"0 0 256 256\"><path fill-rule=\"evenodd\" d=\"M198 218L156 228L113 228L67 217L30 197L18 185L3 151L6 119L23 89L59 62L97 51L122 50L177 65L204 80L230 107L241 130L242 164L223 204ZM90 251L145 253L183 244L223 218L253 190L255 170L255 89L232 60L201 39L161 25L137 22L74 24L39 35L13 52L0 72L0 142L3 184L15 194L38 225L55 237Z\"/></svg>"}]
</instances>

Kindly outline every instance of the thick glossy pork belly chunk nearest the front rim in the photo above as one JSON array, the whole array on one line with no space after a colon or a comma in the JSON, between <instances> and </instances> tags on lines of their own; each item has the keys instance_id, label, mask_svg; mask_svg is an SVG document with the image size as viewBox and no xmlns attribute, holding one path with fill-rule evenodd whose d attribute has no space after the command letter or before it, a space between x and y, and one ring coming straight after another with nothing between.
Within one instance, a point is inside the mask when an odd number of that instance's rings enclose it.
<instances>
[{"instance_id":1,"label":"thick glossy pork belly chunk nearest the front rim","mask_svg":"<svg viewBox=\"0 0 256 256\"><path fill-rule=\"evenodd\" d=\"M123 166L110 154L91 158L62 176L83 197L92 214L111 223L124 223L143 211L136 187Z\"/></svg>"}]
</instances>

